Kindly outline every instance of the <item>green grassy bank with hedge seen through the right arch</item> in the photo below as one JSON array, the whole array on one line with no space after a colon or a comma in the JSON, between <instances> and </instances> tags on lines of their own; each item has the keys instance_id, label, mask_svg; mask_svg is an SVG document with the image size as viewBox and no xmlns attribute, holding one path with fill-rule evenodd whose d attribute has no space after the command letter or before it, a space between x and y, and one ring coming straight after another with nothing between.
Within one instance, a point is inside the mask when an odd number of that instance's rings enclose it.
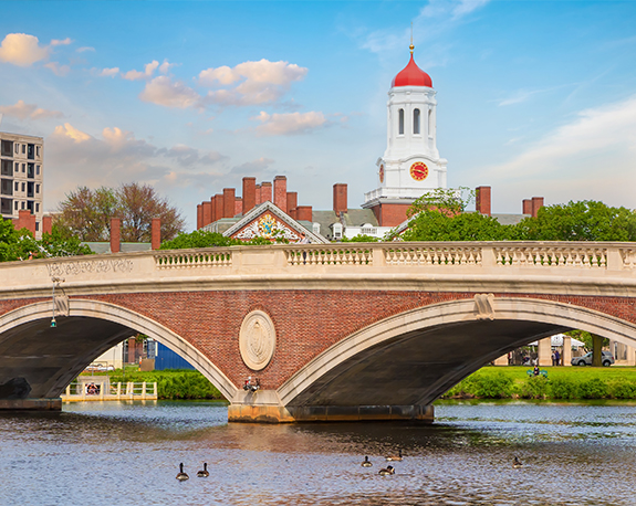
<instances>
[{"instance_id":1,"label":"green grassy bank with hedge seen through the right arch","mask_svg":"<svg viewBox=\"0 0 636 506\"><path fill-rule=\"evenodd\" d=\"M442 399L636 399L634 367L542 367L548 378L529 377L528 367L484 367Z\"/></svg>"}]
</instances>

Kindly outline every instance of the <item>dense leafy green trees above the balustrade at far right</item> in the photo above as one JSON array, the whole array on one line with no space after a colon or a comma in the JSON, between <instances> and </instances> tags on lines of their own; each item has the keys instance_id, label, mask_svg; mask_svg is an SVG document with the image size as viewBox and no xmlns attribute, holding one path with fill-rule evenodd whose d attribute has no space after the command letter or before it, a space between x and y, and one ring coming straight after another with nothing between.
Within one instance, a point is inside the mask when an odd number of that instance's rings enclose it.
<instances>
[{"instance_id":1,"label":"dense leafy green trees above the balustrade at far right","mask_svg":"<svg viewBox=\"0 0 636 506\"><path fill-rule=\"evenodd\" d=\"M636 241L636 212L583 200L546 205L518 225L529 241Z\"/></svg>"}]
</instances>

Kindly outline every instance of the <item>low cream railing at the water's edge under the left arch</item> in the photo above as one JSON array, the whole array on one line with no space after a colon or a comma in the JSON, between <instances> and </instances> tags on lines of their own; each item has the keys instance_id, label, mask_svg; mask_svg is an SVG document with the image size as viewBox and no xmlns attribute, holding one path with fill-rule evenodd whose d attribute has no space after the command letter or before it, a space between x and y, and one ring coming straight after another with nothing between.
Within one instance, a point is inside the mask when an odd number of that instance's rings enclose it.
<instances>
[{"instance_id":1,"label":"low cream railing at the water's edge under the left arch","mask_svg":"<svg viewBox=\"0 0 636 506\"><path fill-rule=\"evenodd\" d=\"M66 391L60 396L63 401L156 401L157 383L153 382L127 382L127 383L103 383L92 384L72 382L66 387Z\"/></svg>"}]
</instances>

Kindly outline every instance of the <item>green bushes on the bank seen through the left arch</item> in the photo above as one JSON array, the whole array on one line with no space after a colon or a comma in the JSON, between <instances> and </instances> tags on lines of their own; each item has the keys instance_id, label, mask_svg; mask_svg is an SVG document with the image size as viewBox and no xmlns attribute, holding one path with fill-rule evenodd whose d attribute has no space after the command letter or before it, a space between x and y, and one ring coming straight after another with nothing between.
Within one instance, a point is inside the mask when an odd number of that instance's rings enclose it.
<instances>
[{"instance_id":1,"label":"green bushes on the bank seen through the left arch","mask_svg":"<svg viewBox=\"0 0 636 506\"><path fill-rule=\"evenodd\" d=\"M177 399L213 399L222 400L223 396L208 379L195 370L165 370L165 371L128 371L122 377L122 369L108 372L111 384L117 382L157 382L157 396L164 400Z\"/></svg>"}]
</instances>

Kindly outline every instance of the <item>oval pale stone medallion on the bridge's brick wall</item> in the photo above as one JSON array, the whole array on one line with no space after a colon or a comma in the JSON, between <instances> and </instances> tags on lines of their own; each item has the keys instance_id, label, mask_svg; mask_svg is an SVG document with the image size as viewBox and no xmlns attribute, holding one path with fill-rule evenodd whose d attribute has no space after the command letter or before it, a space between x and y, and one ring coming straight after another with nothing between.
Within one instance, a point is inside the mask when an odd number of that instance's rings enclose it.
<instances>
[{"instance_id":1,"label":"oval pale stone medallion on the bridge's brick wall","mask_svg":"<svg viewBox=\"0 0 636 506\"><path fill-rule=\"evenodd\" d=\"M254 371L264 369L274 355L277 331L267 313L253 310L243 318L239 348L246 366Z\"/></svg>"}]
</instances>

